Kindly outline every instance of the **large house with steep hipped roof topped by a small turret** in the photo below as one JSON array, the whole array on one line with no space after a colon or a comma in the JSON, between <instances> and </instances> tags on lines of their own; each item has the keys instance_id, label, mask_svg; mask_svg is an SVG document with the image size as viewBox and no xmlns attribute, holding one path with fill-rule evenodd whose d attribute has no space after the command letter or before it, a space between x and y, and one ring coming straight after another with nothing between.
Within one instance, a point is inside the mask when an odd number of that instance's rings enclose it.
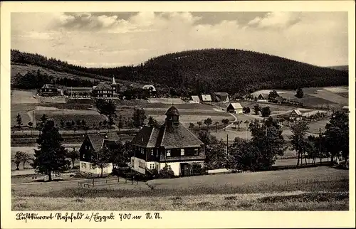
<instances>
[{"instance_id":1,"label":"large house with steep hipped roof topped by a small turret","mask_svg":"<svg viewBox=\"0 0 356 229\"><path fill-rule=\"evenodd\" d=\"M160 127L145 126L132 139L131 166L142 174L164 167L176 176L189 176L192 165L204 165L204 143L179 122L179 112L172 106Z\"/></svg>"}]
</instances>

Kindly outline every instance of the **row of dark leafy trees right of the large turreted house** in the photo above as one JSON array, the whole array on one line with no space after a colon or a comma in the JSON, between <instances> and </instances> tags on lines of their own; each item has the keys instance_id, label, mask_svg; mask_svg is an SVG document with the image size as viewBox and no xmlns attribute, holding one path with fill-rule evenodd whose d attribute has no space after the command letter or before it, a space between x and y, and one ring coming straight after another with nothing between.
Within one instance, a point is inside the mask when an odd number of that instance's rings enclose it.
<instances>
[{"instance_id":1,"label":"row of dark leafy trees right of the large turreted house","mask_svg":"<svg viewBox=\"0 0 356 229\"><path fill-rule=\"evenodd\" d=\"M218 141L209 130L201 130L198 137L206 147L206 169L238 169L242 171L270 170L278 156L290 147L297 154L297 166L307 159L315 164L319 158L330 157L331 164L335 159L342 157L345 163L349 158L349 123L345 112L334 112L330 122L325 126L325 132L314 137L307 134L308 122L303 120L293 122L290 129L290 146L283 138L279 119L268 119L259 122L248 122L248 130L252 138L237 137L227 146L222 139Z\"/></svg>"}]
</instances>

